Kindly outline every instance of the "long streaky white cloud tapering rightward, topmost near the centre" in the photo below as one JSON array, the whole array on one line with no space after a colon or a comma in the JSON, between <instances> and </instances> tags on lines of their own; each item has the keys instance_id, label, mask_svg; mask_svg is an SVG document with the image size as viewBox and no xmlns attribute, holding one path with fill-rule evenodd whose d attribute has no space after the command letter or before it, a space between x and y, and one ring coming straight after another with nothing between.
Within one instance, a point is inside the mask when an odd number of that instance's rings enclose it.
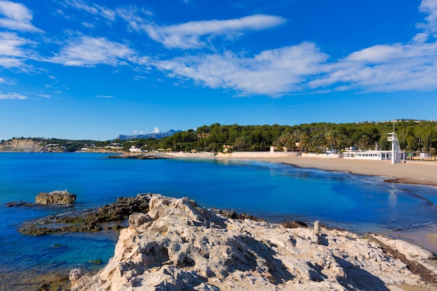
<instances>
[{"instance_id":1,"label":"long streaky white cloud tapering rightward, topmost near the centre","mask_svg":"<svg viewBox=\"0 0 437 291\"><path fill-rule=\"evenodd\" d=\"M205 47L203 36L240 36L243 31L257 31L277 27L286 20L272 15L251 15L233 20L205 20L186 22L184 24L160 27L144 22L135 13L124 13L122 16L129 27L135 31L145 31L149 37L168 48Z\"/></svg>"}]
</instances>

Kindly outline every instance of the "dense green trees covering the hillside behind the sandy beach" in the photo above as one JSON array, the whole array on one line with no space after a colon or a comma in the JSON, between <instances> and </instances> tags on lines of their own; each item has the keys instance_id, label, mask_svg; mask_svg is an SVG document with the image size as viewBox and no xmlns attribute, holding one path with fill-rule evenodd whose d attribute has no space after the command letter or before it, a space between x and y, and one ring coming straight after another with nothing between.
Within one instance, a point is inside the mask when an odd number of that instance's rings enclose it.
<instances>
[{"instance_id":1,"label":"dense green trees covering the hillside behind the sandy beach","mask_svg":"<svg viewBox=\"0 0 437 291\"><path fill-rule=\"evenodd\" d=\"M154 140L120 141L127 151L129 147L147 150L170 149L171 151L223 151L224 145L233 151L268 151L270 146L287 147L289 150L323 152L326 149L382 149L390 150L387 133L398 135L401 149L405 151L435 151L437 147L437 123L435 121L401 120L380 123L330 124L313 123L296 126L239 126L212 124L197 130L186 130L170 137ZM296 145L299 142L299 148ZM103 142L109 144L110 142ZM96 144L98 145L98 144ZM100 144L103 145L103 144Z\"/></svg>"}]
</instances>

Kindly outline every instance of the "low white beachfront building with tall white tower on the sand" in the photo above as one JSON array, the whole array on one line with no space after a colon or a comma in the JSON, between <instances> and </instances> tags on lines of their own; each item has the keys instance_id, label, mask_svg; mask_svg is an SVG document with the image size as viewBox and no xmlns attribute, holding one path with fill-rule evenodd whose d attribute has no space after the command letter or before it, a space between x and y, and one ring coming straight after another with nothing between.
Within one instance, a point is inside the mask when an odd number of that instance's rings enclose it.
<instances>
[{"instance_id":1,"label":"low white beachfront building with tall white tower on the sand","mask_svg":"<svg viewBox=\"0 0 437 291\"><path fill-rule=\"evenodd\" d=\"M392 164L401 163L402 152L396 133L388 133L387 140L392 142L391 151L357 151L347 150L343 152L343 158L355 158L362 160L392 161Z\"/></svg>"}]
</instances>

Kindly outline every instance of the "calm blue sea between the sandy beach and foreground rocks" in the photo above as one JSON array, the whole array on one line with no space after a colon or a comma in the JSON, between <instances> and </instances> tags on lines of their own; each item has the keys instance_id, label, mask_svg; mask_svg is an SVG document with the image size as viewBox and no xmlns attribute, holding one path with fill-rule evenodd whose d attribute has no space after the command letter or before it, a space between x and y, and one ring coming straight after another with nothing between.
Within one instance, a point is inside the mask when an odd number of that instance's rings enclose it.
<instances>
[{"instance_id":1,"label":"calm blue sea between the sandy beach and foreground rocks","mask_svg":"<svg viewBox=\"0 0 437 291\"><path fill-rule=\"evenodd\" d=\"M30 237L24 221L101 207L120 196L188 196L204 207L235 209L267 221L321 221L360 234L437 227L437 188L389 184L381 177L303 169L279 163L214 159L109 159L108 154L0 153L0 290L38 274L108 262L114 232ZM71 207L6 207L39 192L67 189Z\"/></svg>"}]
</instances>

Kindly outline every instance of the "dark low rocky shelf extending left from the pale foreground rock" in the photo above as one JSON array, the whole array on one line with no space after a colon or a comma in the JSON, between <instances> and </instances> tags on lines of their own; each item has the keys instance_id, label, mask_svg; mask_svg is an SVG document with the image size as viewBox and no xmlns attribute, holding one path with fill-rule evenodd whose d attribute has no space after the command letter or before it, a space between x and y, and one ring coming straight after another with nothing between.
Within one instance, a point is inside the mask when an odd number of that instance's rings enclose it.
<instances>
[{"instance_id":1,"label":"dark low rocky shelf extending left from the pale foreground rock","mask_svg":"<svg viewBox=\"0 0 437 291\"><path fill-rule=\"evenodd\" d=\"M24 223L18 230L23 234L43 235L58 232L95 232L122 228L122 222L134 212L147 212L151 194L118 197L117 202L98 209L66 212Z\"/></svg>"}]
</instances>

